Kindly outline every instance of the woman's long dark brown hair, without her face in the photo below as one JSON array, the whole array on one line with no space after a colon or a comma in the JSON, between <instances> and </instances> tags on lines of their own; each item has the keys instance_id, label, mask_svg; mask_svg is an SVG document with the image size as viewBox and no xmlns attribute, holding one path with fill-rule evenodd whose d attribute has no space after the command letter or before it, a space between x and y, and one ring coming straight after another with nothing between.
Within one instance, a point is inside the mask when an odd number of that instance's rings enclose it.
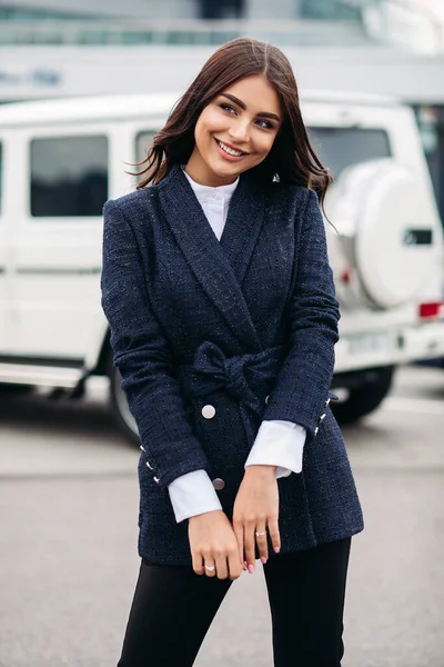
<instances>
[{"instance_id":1,"label":"woman's long dark brown hair, without her face","mask_svg":"<svg viewBox=\"0 0 444 667\"><path fill-rule=\"evenodd\" d=\"M264 76L274 87L284 120L269 155L251 172L269 181L278 179L314 188L323 203L331 177L310 143L290 61L278 47L244 37L220 47L176 102L167 125L155 135L147 159L138 163L138 167L144 166L139 172L139 176L144 175L139 190L161 181L173 165L186 165L194 149L194 128L202 110L223 90L252 74Z\"/></svg>"}]
</instances>

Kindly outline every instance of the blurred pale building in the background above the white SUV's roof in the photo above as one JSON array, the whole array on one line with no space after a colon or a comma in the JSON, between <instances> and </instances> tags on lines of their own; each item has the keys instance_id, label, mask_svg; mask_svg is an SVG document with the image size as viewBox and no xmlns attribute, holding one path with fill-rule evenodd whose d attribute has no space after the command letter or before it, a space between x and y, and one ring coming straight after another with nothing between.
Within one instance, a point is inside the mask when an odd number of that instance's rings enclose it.
<instances>
[{"instance_id":1,"label":"blurred pale building in the background above the white SUV's roof","mask_svg":"<svg viewBox=\"0 0 444 667\"><path fill-rule=\"evenodd\" d=\"M442 0L0 0L0 102L179 93L238 36L283 48L302 89L412 104L444 217Z\"/></svg>"}]
</instances>

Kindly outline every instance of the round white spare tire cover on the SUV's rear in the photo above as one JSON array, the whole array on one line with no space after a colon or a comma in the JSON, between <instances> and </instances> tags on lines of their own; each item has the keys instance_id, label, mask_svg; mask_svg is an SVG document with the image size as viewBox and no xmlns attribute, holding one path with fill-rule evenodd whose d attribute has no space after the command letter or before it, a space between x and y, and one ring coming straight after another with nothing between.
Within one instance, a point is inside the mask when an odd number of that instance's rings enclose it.
<instances>
[{"instance_id":1,"label":"round white spare tire cover on the SUV's rear","mask_svg":"<svg viewBox=\"0 0 444 667\"><path fill-rule=\"evenodd\" d=\"M340 175L326 210L341 235L354 237L359 277L375 305L418 296L441 238L430 183L392 159L363 162Z\"/></svg>"}]
</instances>

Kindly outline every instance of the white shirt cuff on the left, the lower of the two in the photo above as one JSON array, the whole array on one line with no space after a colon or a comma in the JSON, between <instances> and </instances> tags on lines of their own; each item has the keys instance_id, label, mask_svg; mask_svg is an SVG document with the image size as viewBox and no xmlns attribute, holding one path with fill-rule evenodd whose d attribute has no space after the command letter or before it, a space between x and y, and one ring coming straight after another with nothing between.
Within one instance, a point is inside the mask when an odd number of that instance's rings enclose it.
<instances>
[{"instance_id":1,"label":"white shirt cuff on the left, the lower of the two","mask_svg":"<svg viewBox=\"0 0 444 667\"><path fill-rule=\"evenodd\" d=\"M218 494L205 470L186 472L168 487L178 524L190 517L222 509Z\"/></svg>"}]
</instances>

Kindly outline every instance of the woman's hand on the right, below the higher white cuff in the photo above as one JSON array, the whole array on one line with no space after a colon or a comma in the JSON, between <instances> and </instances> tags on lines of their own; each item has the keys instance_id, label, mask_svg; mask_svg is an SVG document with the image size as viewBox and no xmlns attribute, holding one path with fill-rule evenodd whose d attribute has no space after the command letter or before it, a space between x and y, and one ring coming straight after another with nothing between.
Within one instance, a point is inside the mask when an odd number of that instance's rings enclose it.
<instances>
[{"instance_id":1,"label":"woman's hand on the right, below the higher white cuff","mask_svg":"<svg viewBox=\"0 0 444 667\"><path fill-rule=\"evenodd\" d=\"M233 528L239 554L250 573L254 571L255 544L262 563L269 558L266 530L274 551L281 548L279 534L279 488L274 466L248 466L233 510ZM260 535L256 535L256 534Z\"/></svg>"}]
</instances>

